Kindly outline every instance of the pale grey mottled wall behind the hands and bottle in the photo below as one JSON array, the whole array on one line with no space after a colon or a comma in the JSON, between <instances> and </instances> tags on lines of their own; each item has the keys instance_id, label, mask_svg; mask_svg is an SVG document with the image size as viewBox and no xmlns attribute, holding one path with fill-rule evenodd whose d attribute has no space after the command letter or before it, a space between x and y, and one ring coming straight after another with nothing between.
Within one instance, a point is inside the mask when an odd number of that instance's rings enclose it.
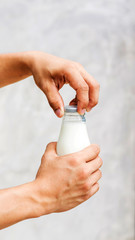
<instances>
[{"instance_id":1,"label":"pale grey mottled wall behind the hands and bottle","mask_svg":"<svg viewBox=\"0 0 135 240\"><path fill-rule=\"evenodd\" d=\"M101 84L87 127L104 161L98 194L69 212L2 230L1 240L133 240L134 12L134 0L0 1L1 53L49 52L80 62ZM74 91L66 86L61 94L68 104ZM60 125L32 78L0 89L1 188L34 179Z\"/></svg>"}]
</instances>

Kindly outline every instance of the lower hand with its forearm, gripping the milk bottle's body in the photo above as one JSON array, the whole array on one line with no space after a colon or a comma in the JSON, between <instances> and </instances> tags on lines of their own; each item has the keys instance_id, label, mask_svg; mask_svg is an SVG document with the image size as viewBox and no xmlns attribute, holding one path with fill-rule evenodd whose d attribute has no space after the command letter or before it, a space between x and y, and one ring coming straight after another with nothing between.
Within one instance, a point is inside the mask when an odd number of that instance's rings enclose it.
<instances>
[{"instance_id":1,"label":"lower hand with its forearm, gripping the milk bottle's body","mask_svg":"<svg viewBox=\"0 0 135 240\"><path fill-rule=\"evenodd\" d=\"M88 200L99 190L99 151L93 144L80 152L58 156L56 142L49 143L35 180L0 190L0 229L25 219L67 211Z\"/></svg>"}]
</instances>

